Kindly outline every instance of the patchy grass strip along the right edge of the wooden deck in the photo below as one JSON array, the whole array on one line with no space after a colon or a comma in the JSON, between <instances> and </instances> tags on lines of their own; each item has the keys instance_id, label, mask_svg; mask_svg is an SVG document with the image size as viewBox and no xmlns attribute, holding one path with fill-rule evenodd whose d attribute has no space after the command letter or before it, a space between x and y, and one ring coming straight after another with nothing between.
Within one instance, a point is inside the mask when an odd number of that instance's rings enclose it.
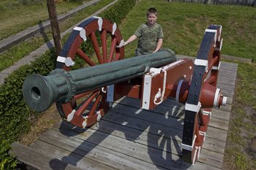
<instances>
[{"instance_id":1,"label":"patchy grass strip along the right edge of the wooden deck","mask_svg":"<svg viewBox=\"0 0 256 170\"><path fill-rule=\"evenodd\" d=\"M256 169L256 64L238 63L224 169Z\"/></svg>"}]
</instances>

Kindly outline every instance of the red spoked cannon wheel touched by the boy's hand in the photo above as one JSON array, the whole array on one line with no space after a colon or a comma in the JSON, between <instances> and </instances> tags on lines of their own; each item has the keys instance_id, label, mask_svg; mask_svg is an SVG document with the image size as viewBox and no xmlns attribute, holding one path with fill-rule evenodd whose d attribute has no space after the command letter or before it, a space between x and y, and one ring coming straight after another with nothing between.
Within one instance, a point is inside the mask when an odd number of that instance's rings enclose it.
<instances>
[{"instance_id":1,"label":"red spoked cannon wheel touched by the boy's hand","mask_svg":"<svg viewBox=\"0 0 256 170\"><path fill-rule=\"evenodd\" d=\"M69 71L77 57L82 58L89 66L121 60L124 58L124 47L116 47L121 41L121 32L116 23L97 17L90 18L73 29L57 59L56 68ZM87 42L91 42L97 59L91 58L82 50L82 45ZM72 96L64 103L56 102L56 107L61 117L72 125L86 128L97 123L108 111L106 90L96 89Z\"/></svg>"}]
</instances>

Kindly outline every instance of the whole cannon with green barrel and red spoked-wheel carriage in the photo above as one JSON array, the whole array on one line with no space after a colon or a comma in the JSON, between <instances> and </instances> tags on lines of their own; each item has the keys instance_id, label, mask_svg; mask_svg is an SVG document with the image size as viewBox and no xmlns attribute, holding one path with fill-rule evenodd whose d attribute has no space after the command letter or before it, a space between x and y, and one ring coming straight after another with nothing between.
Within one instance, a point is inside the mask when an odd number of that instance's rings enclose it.
<instances>
[{"instance_id":1,"label":"whole cannon with green barrel and red spoked-wheel carriage","mask_svg":"<svg viewBox=\"0 0 256 170\"><path fill-rule=\"evenodd\" d=\"M82 46L91 42L94 55ZM171 50L124 59L121 32L109 20L90 18L75 27L48 76L31 74L23 82L23 96L42 112L54 102L59 115L80 128L97 123L111 104L123 96L140 98L141 108L154 109L167 98L185 105L181 149L194 164L206 138L211 108L225 105L217 88L222 26L209 26L195 61L176 61ZM82 58L84 68L72 70Z\"/></svg>"}]
</instances>

